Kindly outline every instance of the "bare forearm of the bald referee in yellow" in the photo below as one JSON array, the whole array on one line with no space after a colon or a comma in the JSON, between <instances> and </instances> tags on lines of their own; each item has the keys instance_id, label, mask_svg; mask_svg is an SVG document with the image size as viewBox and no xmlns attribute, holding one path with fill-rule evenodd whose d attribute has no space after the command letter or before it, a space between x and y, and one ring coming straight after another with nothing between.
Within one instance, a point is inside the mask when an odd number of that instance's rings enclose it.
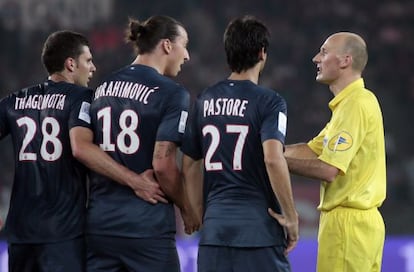
<instances>
[{"instance_id":1,"label":"bare forearm of the bald referee in yellow","mask_svg":"<svg viewBox=\"0 0 414 272\"><path fill-rule=\"evenodd\" d=\"M286 146L284 155L293 174L332 182L339 173L338 168L318 159L305 143Z\"/></svg>"}]
</instances>

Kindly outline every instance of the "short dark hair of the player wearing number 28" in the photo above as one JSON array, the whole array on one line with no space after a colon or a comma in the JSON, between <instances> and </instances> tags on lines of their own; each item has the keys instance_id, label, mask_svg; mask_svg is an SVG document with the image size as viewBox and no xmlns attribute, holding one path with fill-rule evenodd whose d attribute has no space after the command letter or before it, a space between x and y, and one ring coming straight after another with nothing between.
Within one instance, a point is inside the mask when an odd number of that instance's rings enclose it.
<instances>
[{"instance_id":1,"label":"short dark hair of the player wearing number 28","mask_svg":"<svg viewBox=\"0 0 414 272\"><path fill-rule=\"evenodd\" d=\"M50 34L42 50L42 63L47 72L53 74L62 71L65 60L77 59L83 53L83 46L89 47L89 41L80 33L61 30Z\"/></svg>"}]
</instances>

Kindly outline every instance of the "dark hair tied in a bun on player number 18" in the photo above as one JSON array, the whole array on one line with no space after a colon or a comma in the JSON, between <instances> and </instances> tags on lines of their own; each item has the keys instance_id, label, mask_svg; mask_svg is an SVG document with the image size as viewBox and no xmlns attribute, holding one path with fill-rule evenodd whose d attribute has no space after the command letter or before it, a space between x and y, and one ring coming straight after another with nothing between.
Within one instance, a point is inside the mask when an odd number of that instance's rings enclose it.
<instances>
[{"instance_id":1,"label":"dark hair tied in a bun on player number 18","mask_svg":"<svg viewBox=\"0 0 414 272\"><path fill-rule=\"evenodd\" d=\"M138 54L152 52L161 39L174 41L179 36L178 26L184 26L169 16L156 15L144 22L129 18L126 41L133 43Z\"/></svg>"}]
</instances>

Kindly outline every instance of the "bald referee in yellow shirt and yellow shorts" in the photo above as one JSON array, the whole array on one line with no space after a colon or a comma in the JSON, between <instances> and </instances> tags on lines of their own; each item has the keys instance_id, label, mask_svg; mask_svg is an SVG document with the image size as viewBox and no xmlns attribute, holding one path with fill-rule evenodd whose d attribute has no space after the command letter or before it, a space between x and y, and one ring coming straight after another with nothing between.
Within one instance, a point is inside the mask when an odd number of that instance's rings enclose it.
<instances>
[{"instance_id":1,"label":"bald referee in yellow shirt and yellow shorts","mask_svg":"<svg viewBox=\"0 0 414 272\"><path fill-rule=\"evenodd\" d=\"M385 227L378 207L386 195L382 113L361 77L365 41L335 33L313 58L316 81L329 85L332 117L306 143L288 145L293 173L321 181L318 271L381 271Z\"/></svg>"}]
</instances>

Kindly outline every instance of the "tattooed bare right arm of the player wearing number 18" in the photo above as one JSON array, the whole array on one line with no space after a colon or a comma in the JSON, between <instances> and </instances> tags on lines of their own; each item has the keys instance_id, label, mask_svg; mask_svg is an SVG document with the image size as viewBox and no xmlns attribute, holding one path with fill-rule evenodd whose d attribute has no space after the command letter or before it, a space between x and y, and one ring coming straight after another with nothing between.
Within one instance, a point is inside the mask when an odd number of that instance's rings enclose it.
<instances>
[{"instance_id":1,"label":"tattooed bare right arm of the player wearing number 18","mask_svg":"<svg viewBox=\"0 0 414 272\"><path fill-rule=\"evenodd\" d=\"M199 223L190 205L182 175L177 166L177 145L169 141L157 141L152 165L155 176L165 194L178 206L185 223L185 231L198 229Z\"/></svg>"}]
</instances>

